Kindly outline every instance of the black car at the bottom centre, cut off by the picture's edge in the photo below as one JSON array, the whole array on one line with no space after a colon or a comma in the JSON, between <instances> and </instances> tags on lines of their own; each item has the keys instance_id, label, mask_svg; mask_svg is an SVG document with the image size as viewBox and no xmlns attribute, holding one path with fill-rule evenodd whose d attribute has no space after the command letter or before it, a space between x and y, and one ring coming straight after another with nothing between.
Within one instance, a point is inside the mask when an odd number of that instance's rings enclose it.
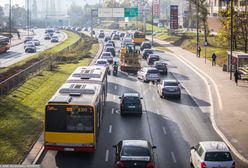
<instances>
[{"instance_id":1,"label":"black car at the bottom centre, cut off by the picture's edge","mask_svg":"<svg viewBox=\"0 0 248 168\"><path fill-rule=\"evenodd\" d=\"M146 140L122 140L115 148L115 164L118 168L154 168L154 149Z\"/></svg>"}]
</instances>

